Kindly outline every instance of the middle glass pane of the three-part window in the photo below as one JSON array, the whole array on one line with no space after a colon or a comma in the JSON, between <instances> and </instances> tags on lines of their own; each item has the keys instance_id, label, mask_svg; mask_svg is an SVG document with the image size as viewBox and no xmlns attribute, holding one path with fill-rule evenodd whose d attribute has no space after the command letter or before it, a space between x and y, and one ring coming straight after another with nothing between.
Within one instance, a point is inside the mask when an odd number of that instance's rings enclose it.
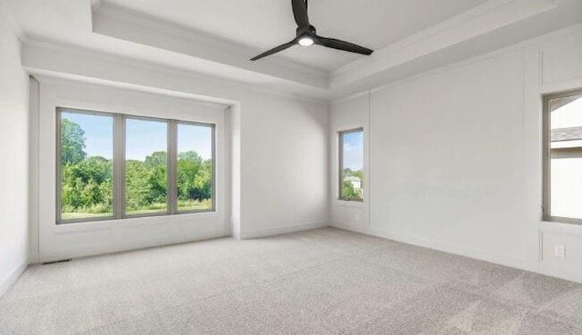
<instances>
[{"instance_id":1,"label":"middle glass pane of the three-part window","mask_svg":"<svg viewBox=\"0 0 582 335\"><path fill-rule=\"evenodd\" d=\"M125 119L125 214L167 209L167 123Z\"/></svg>"}]
</instances>

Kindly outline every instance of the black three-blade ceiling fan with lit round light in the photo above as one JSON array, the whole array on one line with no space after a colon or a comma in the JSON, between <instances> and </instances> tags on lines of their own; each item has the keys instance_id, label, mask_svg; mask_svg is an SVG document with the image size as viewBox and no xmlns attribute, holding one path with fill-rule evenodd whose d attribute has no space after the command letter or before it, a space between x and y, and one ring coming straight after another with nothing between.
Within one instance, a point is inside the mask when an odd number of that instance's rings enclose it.
<instances>
[{"instance_id":1,"label":"black three-blade ceiling fan with lit round light","mask_svg":"<svg viewBox=\"0 0 582 335\"><path fill-rule=\"evenodd\" d=\"M293 15L295 16L295 22L297 24L296 37L291 42L281 44L263 54L251 58L251 61L256 61L270 54L276 54L296 44L303 46L319 44L328 48L356 54L370 55L374 52L374 50L370 50L364 46L317 35L316 27L309 23L309 17L307 16L307 0L291 0L291 5L293 6Z\"/></svg>"}]
</instances>

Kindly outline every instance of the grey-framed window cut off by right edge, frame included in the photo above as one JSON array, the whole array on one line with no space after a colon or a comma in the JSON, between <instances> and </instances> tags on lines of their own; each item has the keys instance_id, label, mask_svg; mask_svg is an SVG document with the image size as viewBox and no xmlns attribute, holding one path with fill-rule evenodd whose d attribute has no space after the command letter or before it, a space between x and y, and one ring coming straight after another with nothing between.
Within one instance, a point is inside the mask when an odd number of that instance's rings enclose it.
<instances>
[{"instance_id":1,"label":"grey-framed window cut off by right edge, frame included","mask_svg":"<svg viewBox=\"0 0 582 335\"><path fill-rule=\"evenodd\" d=\"M582 90L544 98L544 219L582 223Z\"/></svg>"}]
</instances>

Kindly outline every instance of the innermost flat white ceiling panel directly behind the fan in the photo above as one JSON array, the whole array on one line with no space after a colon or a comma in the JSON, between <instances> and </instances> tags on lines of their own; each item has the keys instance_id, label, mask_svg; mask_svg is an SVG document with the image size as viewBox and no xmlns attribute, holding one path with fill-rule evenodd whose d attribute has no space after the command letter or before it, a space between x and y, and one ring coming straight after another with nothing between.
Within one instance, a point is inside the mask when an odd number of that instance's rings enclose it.
<instances>
[{"instance_id":1,"label":"innermost flat white ceiling panel directly behind the fan","mask_svg":"<svg viewBox=\"0 0 582 335\"><path fill-rule=\"evenodd\" d=\"M317 33L380 49L487 0L310 0ZM236 41L257 52L295 37L290 0L103 0ZM331 71L362 57L322 46L294 46L280 57Z\"/></svg>"}]
</instances>

